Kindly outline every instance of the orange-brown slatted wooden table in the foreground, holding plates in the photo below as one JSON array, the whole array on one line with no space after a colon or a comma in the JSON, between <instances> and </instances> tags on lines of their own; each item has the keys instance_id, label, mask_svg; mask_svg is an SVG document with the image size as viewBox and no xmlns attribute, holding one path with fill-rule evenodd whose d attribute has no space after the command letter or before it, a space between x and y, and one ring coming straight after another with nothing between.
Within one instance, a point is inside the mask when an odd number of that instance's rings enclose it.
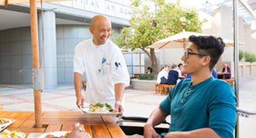
<instances>
[{"instance_id":1,"label":"orange-brown slatted wooden table in the foreground, holding plates","mask_svg":"<svg viewBox=\"0 0 256 138\"><path fill-rule=\"evenodd\" d=\"M51 111L42 112L43 128L35 128L35 114L28 111L4 111L0 118L16 119L9 130L22 133L50 133L55 131L72 131L74 123L85 126L85 131L93 138L126 137L123 130L116 124L112 116L84 116L79 111Z\"/></svg>"}]
</instances>

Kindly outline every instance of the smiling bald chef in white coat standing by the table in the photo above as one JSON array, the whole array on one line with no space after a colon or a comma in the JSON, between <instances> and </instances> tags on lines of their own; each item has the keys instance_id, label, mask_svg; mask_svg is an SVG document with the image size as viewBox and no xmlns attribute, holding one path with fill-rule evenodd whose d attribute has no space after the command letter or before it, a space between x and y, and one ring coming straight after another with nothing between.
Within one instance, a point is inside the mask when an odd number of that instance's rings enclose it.
<instances>
[{"instance_id":1,"label":"smiling bald chef in white coat standing by the table","mask_svg":"<svg viewBox=\"0 0 256 138\"><path fill-rule=\"evenodd\" d=\"M74 88L77 106L83 103L109 103L118 116L124 111L124 89L130 85L126 62L119 47L109 40L111 22L103 15L92 18L89 28L92 39L80 42L74 49ZM81 94L81 79L85 72L87 86Z\"/></svg>"}]
</instances>

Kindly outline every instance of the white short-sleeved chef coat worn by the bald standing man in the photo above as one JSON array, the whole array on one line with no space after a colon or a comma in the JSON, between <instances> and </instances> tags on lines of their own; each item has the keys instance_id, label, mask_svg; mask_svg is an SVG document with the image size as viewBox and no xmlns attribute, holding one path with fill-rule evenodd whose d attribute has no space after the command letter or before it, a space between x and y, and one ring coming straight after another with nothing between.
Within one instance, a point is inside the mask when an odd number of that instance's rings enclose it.
<instances>
[{"instance_id":1,"label":"white short-sleeved chef coat worn by the bald standing man","mask_svg":"<svg viewBox=\"0 0 256 138\"><path fill-rule=\"evenodd\" d=\"M102 64L103 58L106 62ZM99 73L102 67L106 68L106 73ZM102 102L115 107L115 84L130 85L123 54L109 39L104 45L95 45L92 39L80 42L74 49L74 72L86 74L85 103ZM124 98L122 106L124 107Z\"/></svg>"}]
</instances>

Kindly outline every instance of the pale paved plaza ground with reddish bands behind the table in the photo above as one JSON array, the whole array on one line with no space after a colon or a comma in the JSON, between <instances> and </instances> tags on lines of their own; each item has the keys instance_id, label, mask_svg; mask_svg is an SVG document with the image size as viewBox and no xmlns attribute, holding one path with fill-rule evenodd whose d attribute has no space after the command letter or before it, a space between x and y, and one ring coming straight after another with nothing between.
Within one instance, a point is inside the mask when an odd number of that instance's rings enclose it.
<instances>
[{"instance_id":1,"label":"pale paved plaza ground with reddish bands behind the table","mask_svg":"<svg viewBox=\"0 0 256 138\"><path fill-rule=\"evenodd\" d=\"M125 116L150 116L159 103L167 96L127 88L125 91ZM240 107L256 109L256 76L240 82ZM33 89L31 86L0 85L1 106L5 111L33 111ZM85 93L82 91L82 93ZM43 111L79 110L75 105L73 85L60 85L58 89L44 90L42 96ZM168 117L170 120L170 116ZM256 117L240 117L240 138L256 137Z\"/></svg>"}]
</instances>

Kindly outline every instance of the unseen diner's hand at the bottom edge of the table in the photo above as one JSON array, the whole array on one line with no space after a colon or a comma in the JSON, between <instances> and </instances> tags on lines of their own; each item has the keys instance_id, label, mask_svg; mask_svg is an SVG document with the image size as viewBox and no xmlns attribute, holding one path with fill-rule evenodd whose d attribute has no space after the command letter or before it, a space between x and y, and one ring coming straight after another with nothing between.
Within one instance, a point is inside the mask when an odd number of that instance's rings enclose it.
<instances>
[{"instance_id":1,"label":"unseen diner's hand at the bottom edge of the table","mask_svg":"<svg viewBox=\"0 0 256 138\"><path fill-rule=\"evenodd\" d=\"M84 125L74 126L74 130L67 136L67 138L88 138L88 133L85 133Z\"/></svg>"}]
</instances>

